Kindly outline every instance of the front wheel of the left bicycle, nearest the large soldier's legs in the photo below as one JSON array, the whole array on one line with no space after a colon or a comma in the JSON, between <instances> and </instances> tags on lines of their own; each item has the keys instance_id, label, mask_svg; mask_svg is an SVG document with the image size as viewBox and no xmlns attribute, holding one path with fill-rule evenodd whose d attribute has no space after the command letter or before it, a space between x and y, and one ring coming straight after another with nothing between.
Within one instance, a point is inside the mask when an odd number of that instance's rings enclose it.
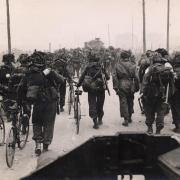
<instances>
[{"instance_id":1,"label":"front wheel of the left bicycle, nearest the large soldier's legs","mask_svg":"<svg viewBox=\"0 0 180 180\"><path fill-rule=\"evenodd\" d=\"M22 122L22 120L23 120L22 117L20 117L19 128L18 128L19 149L23 149L26 146L28 136L29 136L29 120L26 123Z\"/></svg>"}]
</instances>

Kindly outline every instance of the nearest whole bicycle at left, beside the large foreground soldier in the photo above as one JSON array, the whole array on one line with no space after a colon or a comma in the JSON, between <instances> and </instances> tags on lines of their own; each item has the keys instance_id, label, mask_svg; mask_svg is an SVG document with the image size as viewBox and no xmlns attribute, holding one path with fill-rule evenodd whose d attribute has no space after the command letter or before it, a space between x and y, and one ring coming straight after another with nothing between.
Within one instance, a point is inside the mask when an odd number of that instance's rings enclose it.
<instances>
[{"instance_id":1,"label":"nearest whole bicycle at left, beside the large foreground soldier","mask_svg":"<svg viewBox=\"0 0 180 180\"><path fill-rule=\"evenodd\" d=\"M14 105L9 107L12 127L6 139L6 163L9 168L13 166L16 144L22 150L26 146L29 135L29 118L25 121L23 107L18 106L16 102L13 103Z\"/></svg>"}]
</instances>

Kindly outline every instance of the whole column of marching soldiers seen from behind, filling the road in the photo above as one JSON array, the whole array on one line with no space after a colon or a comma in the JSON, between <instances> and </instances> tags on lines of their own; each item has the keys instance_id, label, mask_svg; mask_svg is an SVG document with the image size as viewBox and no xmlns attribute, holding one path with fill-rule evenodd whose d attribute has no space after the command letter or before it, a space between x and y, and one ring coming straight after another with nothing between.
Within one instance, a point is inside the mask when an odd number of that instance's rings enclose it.
<instances>
[{"instance_id":1,"label":"whole column of marching soldiers seen from behind, filling the road","mask_svg":"<svg viewBox=\"0 0 180 180\"><path fill-rule=\"evenodd\" d=\"M53 139L57 104L60 111L64 111L66 81L72 83L75 73L78 77L77 87L82 86L88 93L89 116L94 129L99 129L103 124L105 90L112 75L113 89L119 97L120 114L124 119L123 126L132 123L134 94L139 91L147 133L153 133L155 122L156 134L160 134L169 108L174 131L180 133L178 52L170 57L165 49L148 50L141 56L138 66L131 51L113 47L98 50L60 49L54 53L34 51L31 55L21 54L16 62L13 54L5 54L2 62L0 92L3 102L6 99L15 100L23 106L24 121L32 117L37 155L41 154L41 144L43 152L48 151ZM11 103L4 103L4 106L7 121L11 121L7 110Z\"/></svg>"}]
</instances>

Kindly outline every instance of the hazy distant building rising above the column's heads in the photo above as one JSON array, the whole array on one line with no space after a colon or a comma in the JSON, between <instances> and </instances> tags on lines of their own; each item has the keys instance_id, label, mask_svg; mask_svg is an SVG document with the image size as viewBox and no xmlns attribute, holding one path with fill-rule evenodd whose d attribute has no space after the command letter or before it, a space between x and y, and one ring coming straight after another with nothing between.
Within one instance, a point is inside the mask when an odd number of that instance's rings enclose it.
<instances>
[{"instance_id":1,"label":"hazy distant building rising above the column's heads","mask_svg":"<svg viewBox=\"0 0 180 180\"><path fill-rule=\"evenodd\" d=\"M84 47L91 49L101 49L104 48L104 43L100 40L100 38L95 38L94 40L85 42Z\"/></svg>"}]
</instances>

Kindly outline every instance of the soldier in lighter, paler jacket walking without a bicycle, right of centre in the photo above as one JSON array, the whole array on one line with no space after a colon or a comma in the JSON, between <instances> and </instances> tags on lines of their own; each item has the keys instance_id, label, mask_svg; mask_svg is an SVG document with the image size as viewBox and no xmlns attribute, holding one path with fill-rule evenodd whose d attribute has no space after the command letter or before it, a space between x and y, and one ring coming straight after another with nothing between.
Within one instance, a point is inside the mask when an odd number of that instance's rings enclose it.
<instances>
[{"instance_id":1,"label":"soldier in lighter, paler jacket walking without a bicycle, right of centre","mask_svg":"<svg viewBox=\"0 0 180 180\"><path fill-rule=\"evenodd\" d=\"M139 90L139 81L136 66L130 61L130 54L127 51L121 53L121 60L115 66L113 89L119 96L120 113L124 118L122 125L128 126L132 122L134 93Z\"/></svg>"}]
</instances>

